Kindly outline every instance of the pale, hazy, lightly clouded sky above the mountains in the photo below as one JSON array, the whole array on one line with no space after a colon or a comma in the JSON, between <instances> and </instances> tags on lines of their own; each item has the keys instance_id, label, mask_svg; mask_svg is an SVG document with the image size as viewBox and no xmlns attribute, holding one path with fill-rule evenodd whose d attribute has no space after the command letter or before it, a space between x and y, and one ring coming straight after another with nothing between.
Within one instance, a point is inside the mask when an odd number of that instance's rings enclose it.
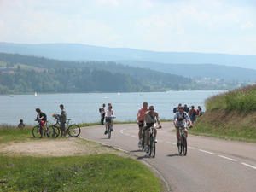
<instances>
[{"instance_id":1,"label":"pale, hazy, lightly clouded sky above the mountains","mask_svg":"<svg viewBox=\"0 0 256 192\"><path fill-rule=\"evenodd\" d=\"M256 1L0 0L0 42L256 55Z\"/></svg>"}]
</instances>

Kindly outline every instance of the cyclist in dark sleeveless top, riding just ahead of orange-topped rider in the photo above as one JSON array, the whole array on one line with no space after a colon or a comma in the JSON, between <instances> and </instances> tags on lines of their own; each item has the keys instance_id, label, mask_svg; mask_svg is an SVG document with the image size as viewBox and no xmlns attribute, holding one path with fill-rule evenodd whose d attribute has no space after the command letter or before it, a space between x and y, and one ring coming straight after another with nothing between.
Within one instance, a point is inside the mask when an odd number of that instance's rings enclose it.
<instances>
[{"instance_id":1,"label":"cyclist in dark sleeveless top, riding just ahead of orange-topped rider","mask_svg":"<svg viewBox=\"0 0 256 192\"><path fill-rule=\"evenodd\" d=\"M145 122L146 122L146 126L144 127L145 143L146 143L145 151L148 153L149 152L149 128L153 126L155 122L157 122L159 125L159 128L161 128L159 115L157 112L154 111L153 105L150 106L149 111L145 113ZM157 134L157 131L156 129L154 129L155 143L157 143L156 134Z\"/></svg>"}]
</instances>

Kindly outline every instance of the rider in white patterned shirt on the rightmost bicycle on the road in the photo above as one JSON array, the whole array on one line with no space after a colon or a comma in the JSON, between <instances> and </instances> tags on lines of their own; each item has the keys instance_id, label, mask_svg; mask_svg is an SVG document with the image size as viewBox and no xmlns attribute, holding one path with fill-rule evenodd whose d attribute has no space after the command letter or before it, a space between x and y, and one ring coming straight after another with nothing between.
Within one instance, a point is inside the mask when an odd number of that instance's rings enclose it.
<instances>
[{"instance_id":1,"label":"rider in white patterned shirt on the rightmost bicycle on the road","mask_svg":"<svg viewBox=\"0 0 256 192\"><path fill-rule=\"evenodd\" d=\"M178 108L178 112L174 115L173 123L176 127L177 145L180 143L179 128L183 128L185 136L188 137L187 125L192 126L189 114L184 111L183 106Z\"/></svg>"}]
</instances>

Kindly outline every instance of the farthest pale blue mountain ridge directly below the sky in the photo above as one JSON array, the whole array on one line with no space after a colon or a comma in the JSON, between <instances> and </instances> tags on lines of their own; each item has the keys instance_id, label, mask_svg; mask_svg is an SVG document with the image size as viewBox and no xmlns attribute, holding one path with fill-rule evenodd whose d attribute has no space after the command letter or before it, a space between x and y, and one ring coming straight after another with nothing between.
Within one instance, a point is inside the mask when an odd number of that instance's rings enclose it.
<instances>
[{"instance_id":1,"label":"farthest pale blue mountain ridge directly below the sky","mask_svg":"<svg viewBox=\"0 0 256 192\"><path fill-rule=\"evenodd\" d=\"M156 52L138 49L107 48L84 44L9 44L0 43L0 52L37 55L69 61L152 61L175 64L218 64L256 69L256 55Z\"/></svg>"}]
</instances>

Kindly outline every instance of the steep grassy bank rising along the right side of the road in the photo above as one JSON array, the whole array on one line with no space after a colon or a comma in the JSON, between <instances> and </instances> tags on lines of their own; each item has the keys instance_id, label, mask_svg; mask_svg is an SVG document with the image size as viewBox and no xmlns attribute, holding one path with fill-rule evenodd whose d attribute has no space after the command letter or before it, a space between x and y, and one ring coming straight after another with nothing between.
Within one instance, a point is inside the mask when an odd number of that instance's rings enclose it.
<instances>
[{"instance_id":1,"label":"steep grassy bank rising along the right side of the road","mask_svg":"<svg viewBox=\"0 0 256 192\"><path fill-rule=\"evenodd\" d=\"M256 143L256 85L213 96L191 133Z\"/></svg>"}]
</instances>

